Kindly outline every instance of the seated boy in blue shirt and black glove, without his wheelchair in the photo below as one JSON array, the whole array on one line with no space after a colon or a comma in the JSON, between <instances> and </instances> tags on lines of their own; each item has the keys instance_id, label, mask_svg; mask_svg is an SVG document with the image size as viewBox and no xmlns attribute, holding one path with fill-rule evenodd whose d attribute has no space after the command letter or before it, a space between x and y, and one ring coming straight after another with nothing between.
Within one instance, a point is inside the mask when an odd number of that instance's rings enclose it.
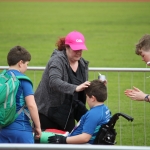
<instances>
[{"instance_id":1,"label":"seated boy in blue shirt and black glove, without his wheelchair","mask_svg":"<svg viewBox=\"0 0 150 150\"><path fill-rule=\"evenodd\" d=\"M90 110L81 117L69 136L51 136L48 139L49 143L93 144L101 125L106 124L111 118L111 112L104 104L107 99L107 87L104 82L93 80L90 86L85 89L85 93Z\"/></svg>"}]
</instances>

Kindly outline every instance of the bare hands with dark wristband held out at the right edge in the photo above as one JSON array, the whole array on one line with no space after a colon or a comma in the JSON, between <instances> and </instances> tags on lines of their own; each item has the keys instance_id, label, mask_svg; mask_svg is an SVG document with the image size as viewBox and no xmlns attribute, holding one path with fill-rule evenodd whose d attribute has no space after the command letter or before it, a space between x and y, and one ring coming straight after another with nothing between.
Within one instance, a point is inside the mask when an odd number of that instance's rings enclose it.
<instances>
[{"instance_id":1,"label":"bare hands with dark wristband held out at the right edge","mask_svg":"<svg viewBox=\"0 0 150 150\"><path fill-rule=\"evenodd\" d=\"M133 87L133 89L125 90L125 95L131 98L132 100L150 102L149 94L145 94L143 91L136 87Z\"/></svg>"}]
</instances>

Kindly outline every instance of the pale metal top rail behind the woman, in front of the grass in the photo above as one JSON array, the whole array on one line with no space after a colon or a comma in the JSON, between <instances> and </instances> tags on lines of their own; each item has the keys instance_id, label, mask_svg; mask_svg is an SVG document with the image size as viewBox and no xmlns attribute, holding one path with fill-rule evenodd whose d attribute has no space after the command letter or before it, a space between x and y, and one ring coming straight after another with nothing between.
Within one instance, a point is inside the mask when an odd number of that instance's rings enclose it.
<instances>
[{"instance_id":1,"label":"pale metal top rail behind the woman, in front of the grass","mask_svg":"<svg viewBox=\"0 0 150 150\"><path fill-rule=\"evenodd\" d=\"M8 66L0 66L0 70L8 69ZM45 67L28 67L28 70L44 70ZM89 67L89 71L107 71L107 72L150 72L150 68L99 68Z\"/></svg>"}]
</instances>

